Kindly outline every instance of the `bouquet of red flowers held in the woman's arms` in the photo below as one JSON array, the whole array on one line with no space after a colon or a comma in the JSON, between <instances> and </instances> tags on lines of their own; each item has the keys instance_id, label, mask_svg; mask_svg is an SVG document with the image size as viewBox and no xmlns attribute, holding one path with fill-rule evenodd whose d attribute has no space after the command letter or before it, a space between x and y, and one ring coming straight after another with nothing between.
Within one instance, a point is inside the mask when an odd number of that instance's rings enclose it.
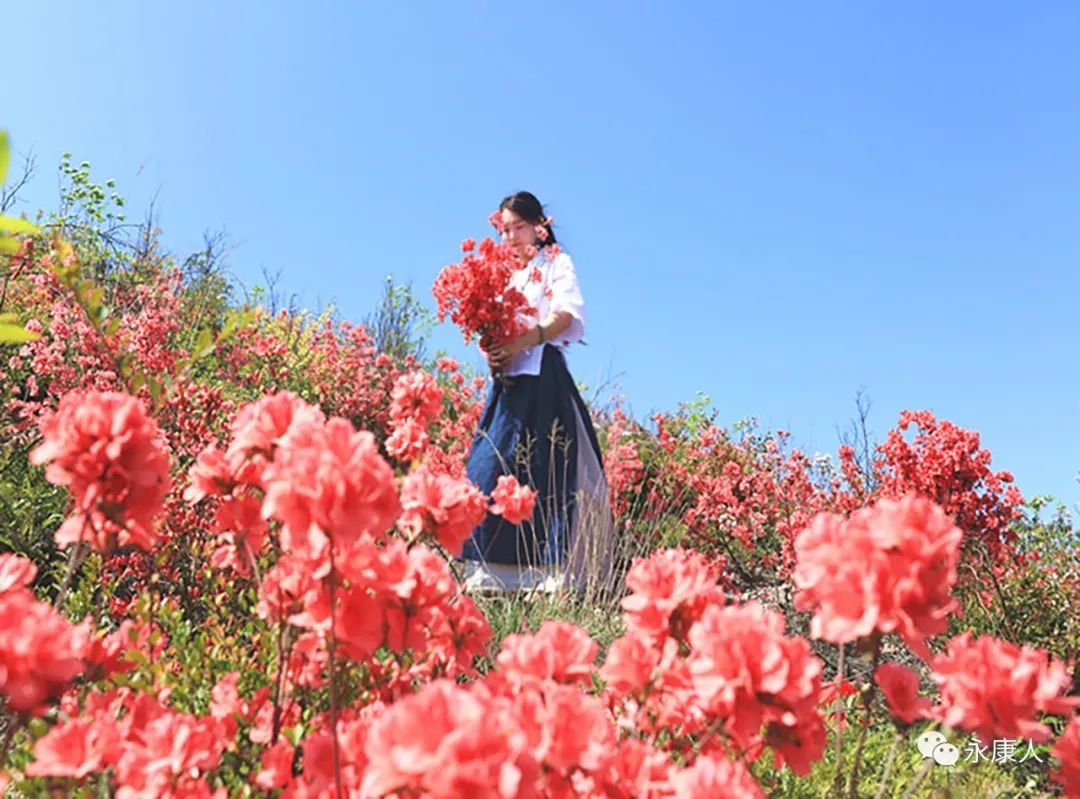
<instances>
[{"instance_id":1,"label":"bouquet of red flowers held in the woman's arms","mask_svg":"<svg viewBox=\"0 0 1080 799\"><path fill-rule=\"evenodd\" d=\"M480 336L480 344L490 350L505 343L527 329L524 317L535 316L525 295L511 285L514 271L521 266L508 244L485 239L467 239L460 263L444 267L432 289L438 306L438 321L446 319L461 328L465 343Z\"/></svg>"}]
</instances>

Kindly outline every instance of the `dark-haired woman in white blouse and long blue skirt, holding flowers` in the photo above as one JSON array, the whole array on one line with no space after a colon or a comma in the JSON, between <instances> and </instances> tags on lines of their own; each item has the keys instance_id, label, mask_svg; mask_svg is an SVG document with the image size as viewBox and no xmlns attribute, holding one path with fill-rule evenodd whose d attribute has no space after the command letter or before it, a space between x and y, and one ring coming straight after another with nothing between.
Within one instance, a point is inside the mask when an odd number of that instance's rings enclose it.
<instances>
[{"instance_id":1,"label":"dark-haired woman in white blouse and long blue skirt, holding flowers","mask_svg":"<svg viewBox=\"0 0 1080 799\"><path fill-rule=\"evenodd\" d=\"M603 585L610 570L611 514L596 431L566 366L565 348L585 330L573 261L555 253L555 233L536 197L499 205L503 240L521 267L514 285L537 309L529 328L484 352L492 380L473 436L469 478L490 493L512 474L537 491L531 520L488 514L465 543L470 588L555 590ZM483 350L482 350L483 352Z\"/></svg>"}]
</instances>

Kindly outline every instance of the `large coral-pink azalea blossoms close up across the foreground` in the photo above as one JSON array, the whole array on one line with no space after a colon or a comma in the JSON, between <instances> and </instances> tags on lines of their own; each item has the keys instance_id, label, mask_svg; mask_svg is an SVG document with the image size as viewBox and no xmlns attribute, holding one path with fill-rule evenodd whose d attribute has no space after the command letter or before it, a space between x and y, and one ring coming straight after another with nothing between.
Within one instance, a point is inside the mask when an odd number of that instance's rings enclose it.
<instances>
[{"instance_id":1,"label":"large coral-pink azalea blossoms close up across the foreground","mask_svg":"<svg viewBox=\"0 0 1080 799\"><path fill-rule=\"evenodd\" d=\"M87 534L69 545L108 551L163 511L165 456L134 397L79 400L49 418L32 457L71 488L69 520ZM52 706L59 714L33 743L26 776L72 793L110 785L118 796L225 796L246 784L284 796L765 796L754 775L762 757L800 775L823 759L842 674L826 685L781 613L730 601L715 560L671 549L637 561L622 600L626 632L602 665L583 629L546 622L507 636L478 676L490 628L438 554L460 545L444 497L407 507L372 435L295 395L244 406L230 433L224 450L200 455L185 500L230 509L216 514L233 556L221 571L246 584L259 622L248 617L249 638L224 652L216 642L228 671L206 686L202 713L190 696L183 709L168 702L187 675L158 614L103 636L32 595L31 563L0 560L12 620L0 690L15 723ZM422 522L403 520L417 513ZM968 633L941 654L928 647L957 609L961 538L915 495L848 519L819 515L797 537L797 601L815 637L853 644L875 663L895 634L939 686L935 700L920 695L913 672L878 664L856 687L853 715L868 720L877 701L900 729L932 720L983 740L1048 742L1044 717L1080 704L1066 695L1062 662ZM845 772L851 786L867 731ZM1061 735L1052 753L1067 785L1074 737Z\"/></svg>"}]
</instances>

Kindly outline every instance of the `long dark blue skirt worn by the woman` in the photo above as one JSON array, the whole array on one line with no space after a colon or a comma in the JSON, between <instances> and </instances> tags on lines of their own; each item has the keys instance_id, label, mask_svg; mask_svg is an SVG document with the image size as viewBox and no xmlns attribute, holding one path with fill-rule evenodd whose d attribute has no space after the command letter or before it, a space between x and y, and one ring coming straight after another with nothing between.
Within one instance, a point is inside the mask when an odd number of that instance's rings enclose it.
<instances>
[{"instance_id":1,"label":"long dark blue skirt worn by the woman","mask_svg":"<svg viewBox=\"0 0 1080 799\"><path fill-rule=\"evenodd\" d=\"M580 415L580 416L579 416ZM578 419L588 441L579 441ZM469 453L469 479L490 493L512 474L537 491L531 520L511 525L488 514L465 542L462 557L494 564L563 564L573 529L578 448L603 463L596 431L566 367L563 351L545 344L539 375L492 381Z\"/></svg>"}]
</instances>

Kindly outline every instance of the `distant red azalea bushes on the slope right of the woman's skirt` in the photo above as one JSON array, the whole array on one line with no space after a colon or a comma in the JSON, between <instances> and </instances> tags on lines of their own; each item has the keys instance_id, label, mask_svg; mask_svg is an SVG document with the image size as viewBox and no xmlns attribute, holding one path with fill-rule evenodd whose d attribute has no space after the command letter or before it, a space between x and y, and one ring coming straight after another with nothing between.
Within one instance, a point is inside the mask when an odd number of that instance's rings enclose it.
<instances>
[{"instance_id":1,"label":"distant red azalea bushes on the slope right of the woman's skirt","mask_svg":"<svg viewBox=\"0 0 1080 799\"><path fill-rule=\"evenodd\" d=\"M939 502L964 531L964 550L999 568L1015 553L1023 497L990 468L978 434L928 411L901 415L864 475L854 449L809 458L785 431L754 420L726 430L707 398L654 415L656 433L616 408L606 426L615 505L632 534L659 528L669 543L724 555L744 587L785 582L794 541L818 513L850 514L916 492Z\"/></svg>"}]
</instances>

